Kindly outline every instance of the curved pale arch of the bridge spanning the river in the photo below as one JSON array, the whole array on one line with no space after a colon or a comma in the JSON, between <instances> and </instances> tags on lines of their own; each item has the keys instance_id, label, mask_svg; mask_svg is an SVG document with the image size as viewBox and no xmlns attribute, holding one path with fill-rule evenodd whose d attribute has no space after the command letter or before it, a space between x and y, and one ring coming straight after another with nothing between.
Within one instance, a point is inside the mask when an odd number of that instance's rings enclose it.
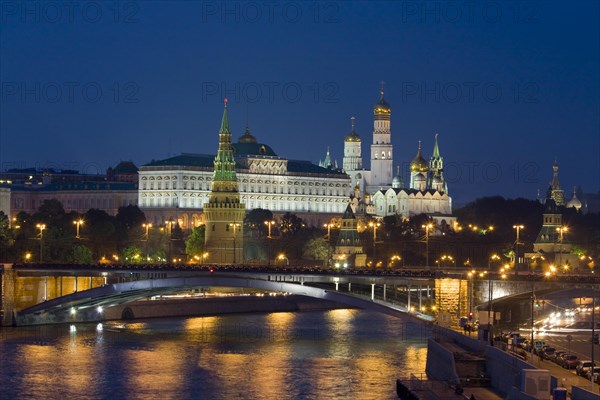
<instances>
[{"instance_id":1,"label":"curved pale arch of the bridge spanning the river","mask_svg":"<svg viewBox=\"0 0 600 400\"><path fill-rule=\"evenodd\" d=\"M328 300L353 308L381 312L412 321L432 321L430 316L409 313L406 307L379 300L370 300L355 295L307 285L274 282L244 277L210 275L202 277L174 277L116 283L58 297L16 313L15 324L40 325L68 322L101 321L99 307L112 307L156 295L181 292L185 289L203 287L241 287L273 292L287 292L322 300Z\"/></svg>"}]
</instances>

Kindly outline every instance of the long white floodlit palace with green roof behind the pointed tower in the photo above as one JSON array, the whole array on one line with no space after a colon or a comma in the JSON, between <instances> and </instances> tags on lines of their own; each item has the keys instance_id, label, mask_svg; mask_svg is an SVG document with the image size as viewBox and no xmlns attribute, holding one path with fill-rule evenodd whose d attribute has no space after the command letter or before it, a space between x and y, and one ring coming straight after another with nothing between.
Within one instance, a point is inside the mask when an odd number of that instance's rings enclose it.
<instances>
[{"instance_id":1,"label":"long white floodlit palace with green roof behind the pointed tower","mask_svg":"<svg viewBox=\"0 0 600 400\"><path fill-rule=\"evenodd\" d=\"M232 146L240 201L248 211L263 208L276 216L290 212L321 226L346 209L350 177L342 171L280 157L258 143L248 128ZM146 217L159 225L177 220L183 229L203 224L214 159L184 153L142 166L138 201Z\"/></svg>"}]
</instances>

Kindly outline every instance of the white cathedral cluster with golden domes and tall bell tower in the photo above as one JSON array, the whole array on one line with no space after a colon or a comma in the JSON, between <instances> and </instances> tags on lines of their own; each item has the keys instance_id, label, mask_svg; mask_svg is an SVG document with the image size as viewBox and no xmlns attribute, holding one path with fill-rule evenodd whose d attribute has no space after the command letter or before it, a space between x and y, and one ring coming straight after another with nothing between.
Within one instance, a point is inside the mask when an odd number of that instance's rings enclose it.
<instances>
[{"instance_id":1,"label":"white cathedral cluster with golden domes and tall bell tower","mask_svg":"<svg viewBox=\"0 0 600 400\"><path fill-rule=\"evenodd\" d=\"M363 202L366 208L379 217L400 215L410 218L428 214L438 223L453 223L452 198L444 179L444 160L440 154L437 133L429 162L423 158L419 142L417 154L410 163L410 181L406 186L399 166L396 175L393 175L392 109L385 100L383 88L380 95L373 107L371 168L363 168L362 140L355 131L352 117L352 130L344 139L343 171L350 176L352 185L365 193ZM330 161L329 151L327 153L326 162L335 165Z\"/></svg>"}]
</instances>

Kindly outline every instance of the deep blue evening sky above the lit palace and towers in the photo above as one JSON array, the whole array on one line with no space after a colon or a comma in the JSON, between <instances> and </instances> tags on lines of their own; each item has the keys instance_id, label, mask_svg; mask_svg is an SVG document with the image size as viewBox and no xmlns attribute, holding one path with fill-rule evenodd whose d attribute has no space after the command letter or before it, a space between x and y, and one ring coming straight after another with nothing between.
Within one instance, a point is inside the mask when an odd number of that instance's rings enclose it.
<instances>
[{"instance_id":1,"label":"deep blue evening sky above the lit palace and towers","mask_svg":"<svg viewBox=\"0 0 600 400\"><path fill-rule=\"evenodd\" d=\"M516 4L516 5L515 5ZM368 164L379 82L394 162L440 135L463 203L600 186L598 2L30 2L0 7L2 169L214 153L222 97L280 155Z\"/></svg>"}]
</instances>

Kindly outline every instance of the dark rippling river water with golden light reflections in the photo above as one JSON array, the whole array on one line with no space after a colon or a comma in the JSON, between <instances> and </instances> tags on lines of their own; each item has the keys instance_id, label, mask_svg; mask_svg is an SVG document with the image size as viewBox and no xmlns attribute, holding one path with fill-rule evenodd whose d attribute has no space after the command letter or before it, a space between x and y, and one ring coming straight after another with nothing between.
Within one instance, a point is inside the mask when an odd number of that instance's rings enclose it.
<instances>
[{"instance_id":1,"label":"dark rippling river water with golden light reflections","mask_svg":"<svg viewBox=\"0 0 600 400\"><path fill-rule=\"evenodd\" d=\"M427 336L360 310L0 328L0 399L395 399Z\"/></svg>"}]
</instances>

